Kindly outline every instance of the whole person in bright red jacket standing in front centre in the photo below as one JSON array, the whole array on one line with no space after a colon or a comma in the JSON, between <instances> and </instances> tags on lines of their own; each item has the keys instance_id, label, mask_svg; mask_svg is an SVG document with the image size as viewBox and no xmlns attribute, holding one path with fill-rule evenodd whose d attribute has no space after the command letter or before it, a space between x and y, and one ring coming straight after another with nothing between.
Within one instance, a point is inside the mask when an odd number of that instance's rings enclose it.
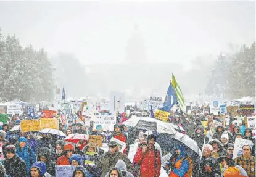
<instances>
[{"instance_id":1,"label":"whole person in bright red jacket standing in front centre","mask_svg":"<svg viewBox=\"0 0 256 177\"><path fill-rule=\"evenodd\" d=\"M134 156L134 163L141 166L141 177L160 176L160 152L155 149L155 141L155 135L150 134L147 138L147 145L139 147Z\"/></svg>"}]
</instances>

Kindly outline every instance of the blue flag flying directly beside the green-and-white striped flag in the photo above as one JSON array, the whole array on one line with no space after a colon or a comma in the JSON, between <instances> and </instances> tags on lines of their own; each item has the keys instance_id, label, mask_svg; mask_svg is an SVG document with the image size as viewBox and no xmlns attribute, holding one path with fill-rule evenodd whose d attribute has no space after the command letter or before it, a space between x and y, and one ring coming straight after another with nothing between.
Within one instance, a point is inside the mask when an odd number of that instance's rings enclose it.
<instances>
[{"instance_id":1,"label":"blue flag flying directly beside the green-and-white striped flag","mask_svg":"<svg viewBox=\"0 0 256 177\"><path fill-rule=\"evenodd\" d=\"M163 107L160 107L159 110L170 112L171 108L177 102L177 97L175 91L173 89L172 84L170 83L169 88L167 90L167 95L165 96L165 102L163 103Z\"/></svg>"}]
</instances>

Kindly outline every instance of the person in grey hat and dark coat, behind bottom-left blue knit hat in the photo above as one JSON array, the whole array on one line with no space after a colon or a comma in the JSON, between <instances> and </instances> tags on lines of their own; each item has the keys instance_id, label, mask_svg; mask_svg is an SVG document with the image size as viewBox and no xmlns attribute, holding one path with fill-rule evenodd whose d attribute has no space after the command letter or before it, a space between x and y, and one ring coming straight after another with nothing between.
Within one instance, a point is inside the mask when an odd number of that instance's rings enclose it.
<instances>
[{"instance_id":1,"label":"person in grey hat and dark coat, behind bottom-left blue knit hat","mask_svg":"<svg viewBox=\"0 0 256 177\"><path fill-rule=\"evenodd\" d=\"M38 151L38 161L44 162L46 164L46 170L52 176L55 176L55 166L56 162L52 162L50 159L50 150L48 147L41 147Z\"/></svg>"}]
</instances>

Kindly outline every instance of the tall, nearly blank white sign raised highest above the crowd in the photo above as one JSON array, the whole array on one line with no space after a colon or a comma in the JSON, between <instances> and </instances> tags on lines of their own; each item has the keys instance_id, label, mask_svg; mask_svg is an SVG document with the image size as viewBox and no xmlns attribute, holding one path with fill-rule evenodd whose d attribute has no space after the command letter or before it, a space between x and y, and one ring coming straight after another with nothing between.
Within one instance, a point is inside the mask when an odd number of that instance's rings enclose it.
<instances>
[{"instance_id":1,"label":"tall, nearly blank white sign raised highest above the crowd","mask_svg":"<svg viewBox=\"0 0 256 177\"><path fill-rule=\"evenodd\" d=\"M125 93L114 92L110 93L110 112L125 112Z\"/></svg>"}]
</instances>

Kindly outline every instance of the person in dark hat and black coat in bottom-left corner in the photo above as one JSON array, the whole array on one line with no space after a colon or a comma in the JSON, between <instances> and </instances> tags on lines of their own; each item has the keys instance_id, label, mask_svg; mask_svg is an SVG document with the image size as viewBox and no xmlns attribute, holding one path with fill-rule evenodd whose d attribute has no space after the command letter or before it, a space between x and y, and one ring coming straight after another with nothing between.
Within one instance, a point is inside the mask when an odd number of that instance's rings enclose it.
<instances>
[{"instance_id":1,"label":"person in dark hat and black coat in bottom-left corner","mask_svg":"<svg viewBox=\"0 0 256 177\"><path fill-rule=\"evenodd\" d=\"M16 148L14 145L8 145L4 149L6 159L4 160L4 168L6 174L15 177L24 177L27 174L26 163L16 155Z\"/></svg>"}]
</instances>

